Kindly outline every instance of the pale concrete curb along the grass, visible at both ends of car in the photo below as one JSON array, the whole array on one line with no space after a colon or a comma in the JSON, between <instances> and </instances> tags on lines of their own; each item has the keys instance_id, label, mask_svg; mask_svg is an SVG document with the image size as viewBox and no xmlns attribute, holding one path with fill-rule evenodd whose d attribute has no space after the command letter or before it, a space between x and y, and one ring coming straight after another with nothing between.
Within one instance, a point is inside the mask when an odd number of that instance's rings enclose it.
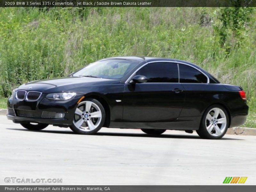
<instances>
[{"instance_id":1,"label":"pale concrete curb along the grass, visible at both ends of car","mask_svg":"<svg viewBox=\"0 0 256 192\"><path fill-rule=\"evenodd\" d=\"M0 109L0 115L7 115L7 109ZM233 127L228 128L226 134L230 135L256 135L256 128Z\"/></svg>"}]
</instances>

